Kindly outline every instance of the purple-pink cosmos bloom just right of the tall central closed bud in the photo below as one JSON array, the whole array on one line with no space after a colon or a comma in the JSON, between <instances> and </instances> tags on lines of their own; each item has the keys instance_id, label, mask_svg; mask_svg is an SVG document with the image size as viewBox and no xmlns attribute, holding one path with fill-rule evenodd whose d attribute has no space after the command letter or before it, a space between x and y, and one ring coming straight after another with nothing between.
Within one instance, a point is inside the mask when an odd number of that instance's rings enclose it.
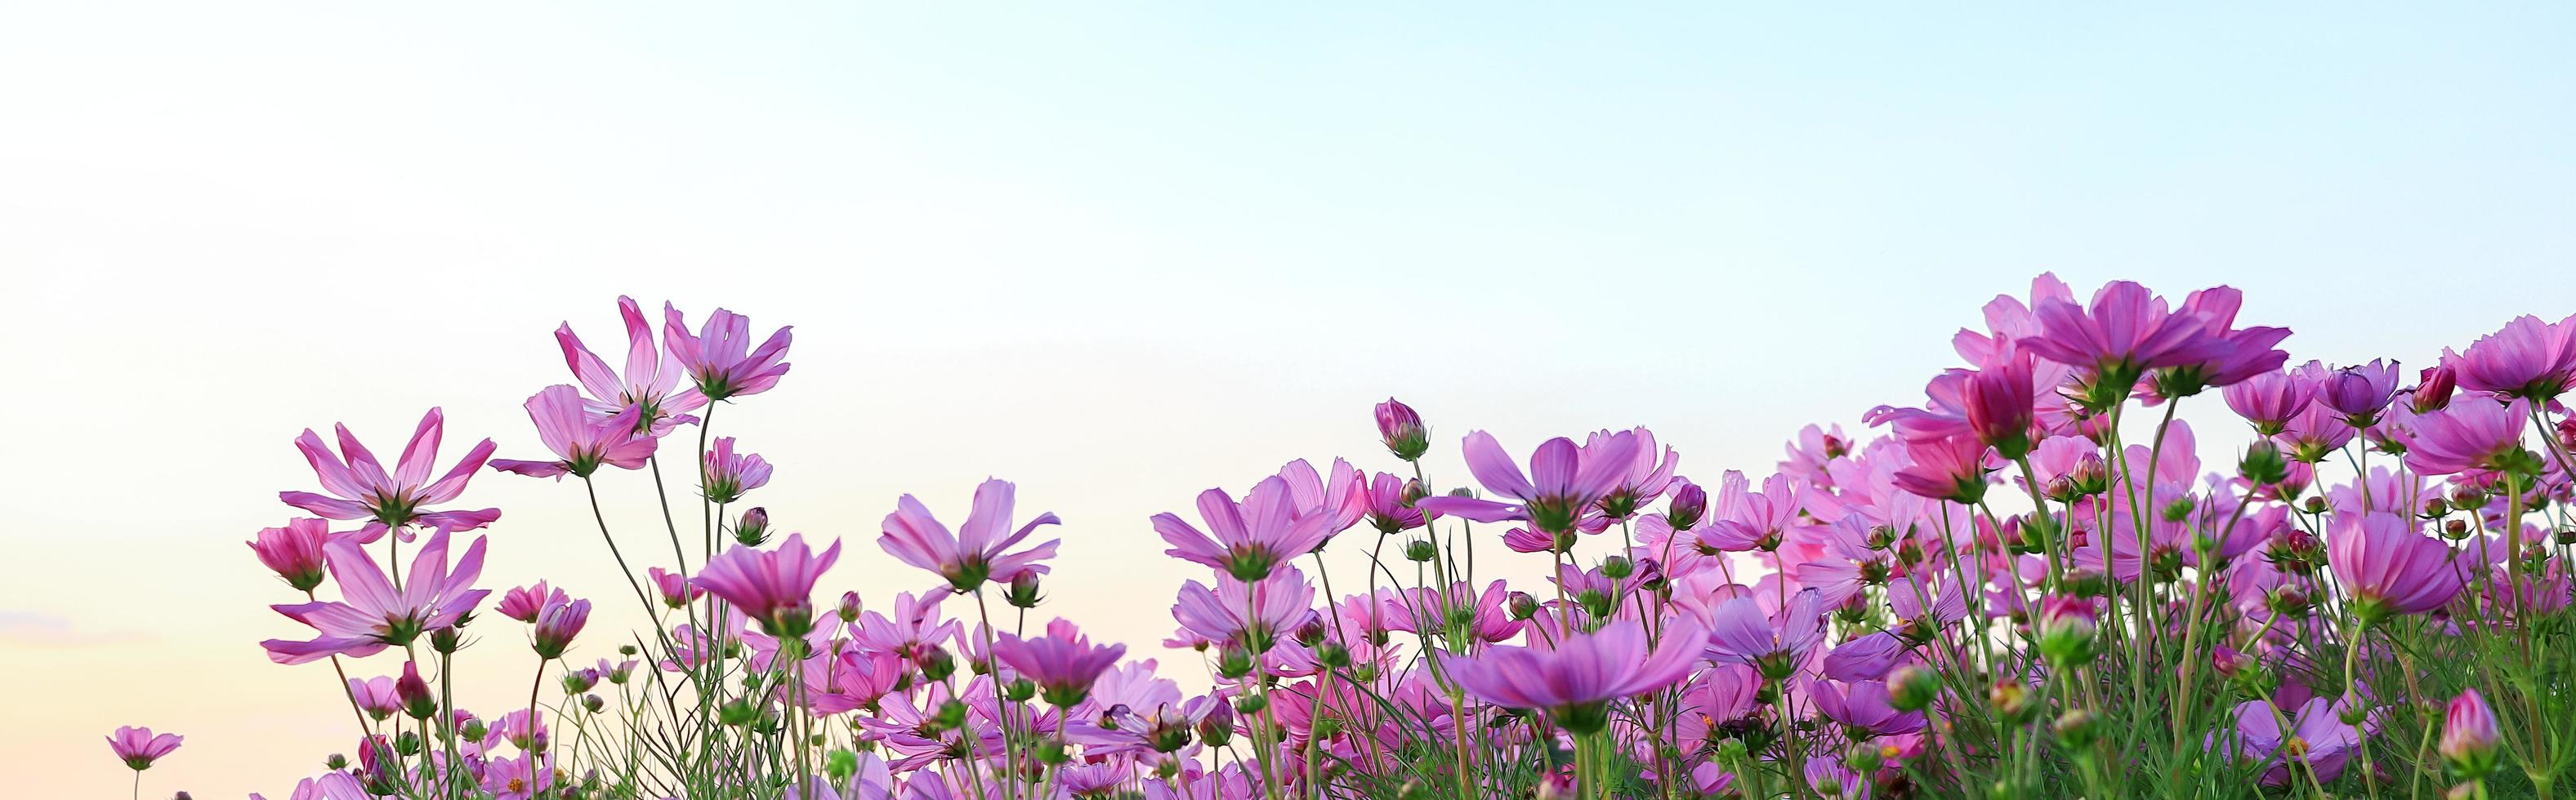
<instances>
[{"instance_id":1,"label":"purple-pink cosmos bloom just right of the tall central closed bud","mask_svg":"<svg viewBox=\"0 0 2576 800\"><path fill-rule=\"evenodd\" d=\"M1489 432L1466 435L1463 448L1466 468L1476 476L1476 484L1512 502L1425 496L1414 504L1417 509L1476 522L1530 520L1530 527L1540 532L1571 535L1574 522L1582 520L1587 507L1628 481L1628 473L1636 468L1638 437L1602 437L1597 450L1589 453L1569 437L1546 440L1530 453L1528 476L1522 476L1520 463L1512 463L1512 455Z\"/></svg>"}]
</instances>

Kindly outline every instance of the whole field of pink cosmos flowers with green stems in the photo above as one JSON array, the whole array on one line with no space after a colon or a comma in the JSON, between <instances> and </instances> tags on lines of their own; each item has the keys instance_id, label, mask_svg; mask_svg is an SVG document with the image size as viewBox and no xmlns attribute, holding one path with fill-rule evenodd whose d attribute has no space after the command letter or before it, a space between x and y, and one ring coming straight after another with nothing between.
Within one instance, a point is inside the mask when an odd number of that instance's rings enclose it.
<instances>
[{"instance_id":1,"label":"whole field of pink cosmos flowers with green stems","mask_svg":"<svg viewBox=\"0 0 2576 800\"><path fill-rule=\"evenodd\" d=\"M2329 365L2239 304L2040 275L1922 399L1754 471L1643 427L1352 409L1347 458L1123 520L1206 574L1167 641L1108 643L1046 615L1059 520L1010 481L773 525L773 468L719 417L793 391L788 329L618 298L618 363L556 332L544 453L446 460L438 409L392 458L294 440L312 473L278 476L240 568L278 576L294 633L263 648L332 666L350 743L270 797L2558 797L2576 316ZM1468 473L1427 473L1435 448ZM662 525L605 522L613 473L662 486ZM556 481L631 592L487 576L482 481ZM845 592L850 558L920 584ZM464 646L523 648L531 692L459 697ZM137 797L188 756L108 746Z\"/></svg>"}]
</instances>

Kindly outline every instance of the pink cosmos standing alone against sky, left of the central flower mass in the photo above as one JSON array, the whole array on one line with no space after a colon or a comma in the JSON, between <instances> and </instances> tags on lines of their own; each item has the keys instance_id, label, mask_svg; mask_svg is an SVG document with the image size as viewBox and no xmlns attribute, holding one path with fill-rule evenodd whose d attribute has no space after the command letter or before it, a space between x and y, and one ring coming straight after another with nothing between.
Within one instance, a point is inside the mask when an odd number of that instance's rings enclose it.
<instances>
[{"instance_id":1,"label":"pink cosmos standing alone against sky, left of the central flower mass","mask_svg":"<svg viewBox=\"0 0 2576 800\"><path fill-rule=\"evenodd\" d=\"M886 514L884 525L886 535L876 545L904 563L940 574L958 592L974 592L984 581L1046 574L1046 563L1038 561L1056 558L1061 540L1046 540L1020 553L1010 553L1010 548L1020 545L1038 525L1059 525L1061 520L1056 512L1043 512L1012 530L1015 494L1010 481L987 478L974 489L974 509L966 512L966 525L958 525L956 535L930 517L920 499L904 494L894 499L894 514Z\"/></svg>"}]
</instances>

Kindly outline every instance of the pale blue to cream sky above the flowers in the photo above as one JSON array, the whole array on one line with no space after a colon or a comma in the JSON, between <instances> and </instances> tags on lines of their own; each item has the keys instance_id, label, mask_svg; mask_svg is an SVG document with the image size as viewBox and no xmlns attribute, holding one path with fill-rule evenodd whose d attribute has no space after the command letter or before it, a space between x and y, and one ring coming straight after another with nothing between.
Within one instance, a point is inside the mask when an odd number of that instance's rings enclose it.
<instances>
[{"instance_id":1,"label":"pale blue to cream sky above the flowers","mask_svg":"<svg viewBox=\"0 0 2576 800\"><path fill-rule=\"evenodd\" d=\"M0 8L0 772L121 792L98 736L188 736L147 792L281 795L348 751L242 540L348 422L448 460L616 347L616 296L793 324L716 435L840 538L824 589L987 476L1054 509L1041 617L1190 679L1203 571L1146 517L1291 458L1654 427L1757 476L1860 430L2053 270L2246 291L2293 358L2424 365L2576 311L2568 5L18 3ZM2215 406L2215 404L2205 404ZM2202 419L2210 409L2184 412ZM2223 424L2205 417L2205 424ZM440 463L446 466L446 463ZM603 481L652 543L644 473ZM484 586L636 612L574 484L477 476ZM461 666L497 705L533 661ZM598 656L605 646L577 646ZM397 669L358 661L361 674ZM489 700L484 700L489 697Z\"/></svg>"}]
</instances>

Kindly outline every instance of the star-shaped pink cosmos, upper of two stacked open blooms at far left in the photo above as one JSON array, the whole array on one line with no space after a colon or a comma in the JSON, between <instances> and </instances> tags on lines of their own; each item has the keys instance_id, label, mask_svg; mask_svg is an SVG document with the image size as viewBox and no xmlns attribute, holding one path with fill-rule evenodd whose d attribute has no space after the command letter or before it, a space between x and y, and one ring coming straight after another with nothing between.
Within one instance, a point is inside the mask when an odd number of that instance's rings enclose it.
<instances>
[{"instance_id":1,"label":"star-shaped pink cosmos, upper of two stacked open blooms at far left","mask_svg":"<svg viewBox=\"0 0 2576 800\"><path fill-rule=\"evenodd\" d=\"M368 520L358 527L358 543L374 543L394 530L402 540L412 540L410 525L428 525L435 530L477 530L500 520L500 509L482 512L433 512L430 504L451 502L466 491L466 481L482 468L484 458L492 458L492 440L482 440L466 458L448 468L438 481L430 481L430 468L438 460L438 437L446 430L446 414L430 409L420 417L420 427L412 430L412 442L402 445L402 460L394 460L394 471L386 473L376 463L376 455L348 432L348 424L332 424L340 435L340 453L335 455L312 427L296 437L296 450L312 463L314 476L322 478L325 494L312 491L278 491L291 507L330 517L330 520Z\"/></svg>"}]
</instances>

